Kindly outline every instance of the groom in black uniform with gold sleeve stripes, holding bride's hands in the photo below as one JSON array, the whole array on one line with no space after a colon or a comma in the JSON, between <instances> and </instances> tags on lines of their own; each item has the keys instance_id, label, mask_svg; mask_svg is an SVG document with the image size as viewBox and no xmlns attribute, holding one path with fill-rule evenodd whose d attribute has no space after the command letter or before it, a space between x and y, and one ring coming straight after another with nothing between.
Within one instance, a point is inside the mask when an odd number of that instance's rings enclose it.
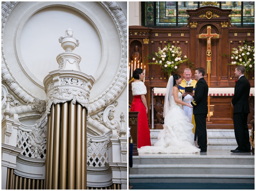
<instances>
[{"instance_id":1,"label":"groom in black uniform with gold sleeve stripes, holding bride's hands","mask_svg":"<svg viewBox=\"0 0 256 191\"><path fill-rule=\"evenodd\" d=\"M205 69L202 67L196 68L195 77L197 84L195 86L194 99L190 103L193 107L195 116L195 124L197 131L197 144L201 149L200 152L207 151L207 132L206 132L206 118L208 113L207 96L208 85L204 78Z\"/></svg>"}]
</instances>

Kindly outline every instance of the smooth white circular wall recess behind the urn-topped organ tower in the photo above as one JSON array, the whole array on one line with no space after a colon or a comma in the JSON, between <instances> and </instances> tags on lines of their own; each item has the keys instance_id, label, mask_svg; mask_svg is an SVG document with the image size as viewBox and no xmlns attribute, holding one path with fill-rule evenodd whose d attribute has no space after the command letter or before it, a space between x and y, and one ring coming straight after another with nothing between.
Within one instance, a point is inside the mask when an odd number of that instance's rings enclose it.
<instances>
[{"instance_id":1,"label":"smooth white circular wall recess behind the urn-topped organ tower","mask_svg":"<svg viewBox=\"0 0 256 191\"><path fill-rule=\"evenodd\" d=\"M43 85L50 71L58 70L56 56L64 50L59 37L71 28L79 47L73 52L81 56L80 69L87 75L96 73L101 60L101 44L94 27L79 13L64 7L48 7L33 14L24 25L20 37L22 66L26 75ZM24 66L25 65L25 66Z\"/></svg>"}]
</instances>

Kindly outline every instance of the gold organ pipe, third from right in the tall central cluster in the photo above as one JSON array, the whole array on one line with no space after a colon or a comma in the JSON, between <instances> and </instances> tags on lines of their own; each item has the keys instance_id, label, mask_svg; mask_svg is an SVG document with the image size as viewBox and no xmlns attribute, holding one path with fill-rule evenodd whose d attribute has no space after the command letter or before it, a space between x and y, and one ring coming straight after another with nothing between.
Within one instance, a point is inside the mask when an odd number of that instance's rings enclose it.
<instances>
[{"instance_id":1,"label":"gold organ pipe, third from right in the tall central cluster","mask_svg":"<svg viewBox=\"0 0 256 191\"><path fill-rule=\"evenodd\" d=\"M69 101L68 188L75 189L76 105Z\"/></svg>"}]
</instances>

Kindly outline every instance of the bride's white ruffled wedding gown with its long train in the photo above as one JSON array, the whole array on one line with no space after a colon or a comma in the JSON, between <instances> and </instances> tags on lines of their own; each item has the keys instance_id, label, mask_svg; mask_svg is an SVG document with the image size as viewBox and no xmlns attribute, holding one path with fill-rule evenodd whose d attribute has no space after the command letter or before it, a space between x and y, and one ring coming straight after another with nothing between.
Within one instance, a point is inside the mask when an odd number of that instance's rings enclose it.
<instances>
[{"instance_id":1,"label":"bride's white ruffled wedding gown with its long train","mask_svg":"<svg viewBox=\"0 0 256 191\"><path fill-rule=\"evenodd\" d=\"M181 92L178 98L181 99ZM200 149L194 145L193 125L185 115L180 104L170 97L170 108L164 118L164 129L158 134L154 147L145 146L138 149L139 153L196 153Z\"/></svg>"}]
</instances>

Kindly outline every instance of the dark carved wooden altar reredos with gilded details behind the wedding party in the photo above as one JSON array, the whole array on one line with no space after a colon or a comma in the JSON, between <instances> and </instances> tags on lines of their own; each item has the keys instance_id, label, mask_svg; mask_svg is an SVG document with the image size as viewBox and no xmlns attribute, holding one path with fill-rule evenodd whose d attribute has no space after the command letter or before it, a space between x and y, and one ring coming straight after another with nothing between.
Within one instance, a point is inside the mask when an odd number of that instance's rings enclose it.
<instances>
[{"instance_id":1,"label":"dark carved wooden altar reredos with gilded details behind the wedding party","mask_svg":"<svg viewBox=\"0 0 256 191\"><path fill-rule=\"evenodd\" d=\"M211 73L210 87L234 87L236 77L234 76L235 65L231 63L230 53L232 48L243 46L244 40L254 46L254 27L236 27L230 23L231 10L218 7L206 6L196 10L187 10L189 14L187 25L179 28L148 28L142 26L129 26L129 62L135 45L143 57L143 68L146 65L145 85L147 88L146 100L148 108L151 102L151 90L154 87L166 87L168 82L167 73L161 71L158 65L147 65L151 60L144 57L152 52L158 52L158 47L164 48L168 45L181 47L183 56L187 56L194 67L207 68L206 51L207 39L200 38L199 34L207 33L207 26L211 26L211 33L216 33L219 38L211 39ZM207 14L208 13L208 14ZM210 14L209 14L210 13ZM183 71L189 67L181 64L179 74L183 77ZM191 68L192 79L195 70ZM207 74L205 80L208 82ZM254 71L249 72L249 82L254 87ZM132 102L131 84L129 84L129 101ZM232 96L214 96L210 98L210 105L214 106L214 115L211 117L212 128L232 128L233 108L231 107ZM254 105L254 102L253 102ZM254 110L254 108L253 108ZM254 116L254 115L253 115ZM148 112L148 118L151 113ZM156 123L158 121L155 121ZM151 122L150 122L151 123ZM215 125L215 126L214 126ZM209 127L209 126L208 126Z\"/></svg>"}]
</instances>

